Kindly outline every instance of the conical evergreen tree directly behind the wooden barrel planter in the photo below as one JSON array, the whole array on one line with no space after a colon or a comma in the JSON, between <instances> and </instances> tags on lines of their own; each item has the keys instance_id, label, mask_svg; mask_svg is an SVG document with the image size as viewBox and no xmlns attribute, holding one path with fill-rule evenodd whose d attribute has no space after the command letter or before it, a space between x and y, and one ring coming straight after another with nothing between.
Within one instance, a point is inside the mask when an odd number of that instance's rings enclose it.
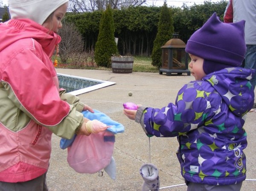
<instances>
[{"instance_id":1,"label":"conical evergreen tree directly behind the wooden barrel planter","mask_svg":"<svg viewBox=\"0 0 256 191\"><path fill-rule=\"evenodd\" d=\"M97 66L111 67L111 56L118 54L114 39L113 13L110 6L102 13L99 23L99 35L95 45L95 62Z\"/></svg>"}]
</instances>

